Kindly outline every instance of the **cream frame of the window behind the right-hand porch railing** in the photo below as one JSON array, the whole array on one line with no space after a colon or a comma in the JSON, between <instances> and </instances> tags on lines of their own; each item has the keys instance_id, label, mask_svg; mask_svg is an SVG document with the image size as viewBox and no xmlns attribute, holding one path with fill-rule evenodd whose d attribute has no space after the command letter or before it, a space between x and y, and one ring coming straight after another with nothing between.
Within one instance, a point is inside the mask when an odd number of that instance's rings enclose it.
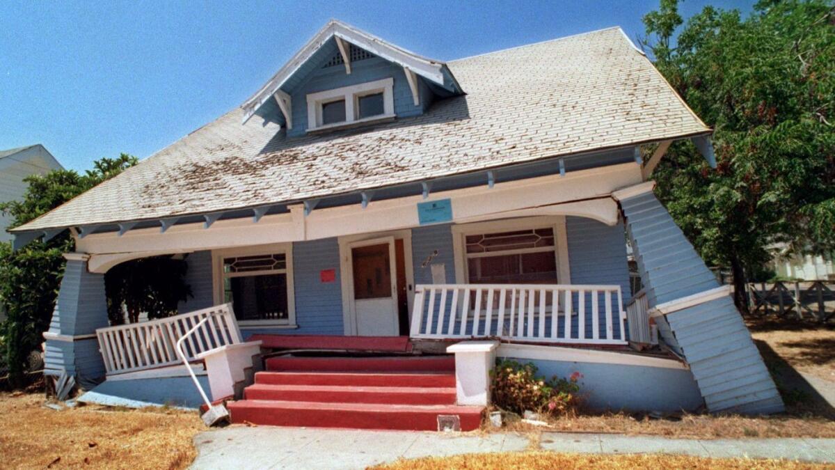
<instances>
[{"instance_id":1,"label":"cream frame of the window behind the right-hand porch railing","mask_svg":"<svg viewBox=\"0 0 835 470\"><path fill-rule=\"evenodd\" d=\"M467 253L466 237L468 235L483 235L485 233L514 232L517 230L534 230L539 228L551 228L554 230L554 258L557 265L557 279L559 284L571 284L571 272L569 269L568 240L565 231L565 217L520 217L489 222L473 222L453 225L453 253L455 257L455 282L457 284L469 284L468 258L480 258L483 256L495 256L496 254L509 253L534 253L543 252L544 247L524 248L509 250L507 252L491 253ZM550 248L550 247L548 247ZM492 284L486 284L492 285Z\"/></svg>"}]
</instances>

